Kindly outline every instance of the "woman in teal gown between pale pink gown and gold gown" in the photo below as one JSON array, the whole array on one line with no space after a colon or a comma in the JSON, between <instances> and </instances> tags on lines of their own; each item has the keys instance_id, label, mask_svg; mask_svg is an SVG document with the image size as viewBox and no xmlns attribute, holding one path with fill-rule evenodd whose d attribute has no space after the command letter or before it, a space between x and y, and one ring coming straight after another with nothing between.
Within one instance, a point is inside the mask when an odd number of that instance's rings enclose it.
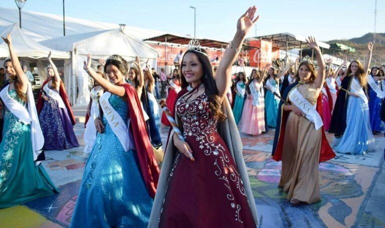
<instances>
[{"instance_id":1,"label":"woman in teal gown between pale pink gown and gold gown","mask_svg":"<svg viewBox=\"0 0 385 228\"><path fill-rule=\"evenodd\" d=\"M269 69L269 77L266 80L270 82L270 84L273 86L272 88L279 93L279 84L278 79L279 75L274 72L274 68ZM265 88L267 88L266 96L265 96L265 107L266 107L266 116L267 116L267 124L269 127L275 128L277 125L277 114L278 114L278 104L279 99L276 98L276 96L273 94L271 89L265 85Z\"/></svg>"}]
</instances>

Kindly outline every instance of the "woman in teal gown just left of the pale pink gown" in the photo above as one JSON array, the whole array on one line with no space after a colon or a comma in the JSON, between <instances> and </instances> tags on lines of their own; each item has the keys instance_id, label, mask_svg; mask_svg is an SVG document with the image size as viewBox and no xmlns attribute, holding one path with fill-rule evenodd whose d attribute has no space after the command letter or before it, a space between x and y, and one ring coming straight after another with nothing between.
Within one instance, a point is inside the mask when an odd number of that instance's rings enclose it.
<instances>
[{"instance_id":1,"label":"woman in teal gown just left of the pale pink gown","mask_svg":"<svg viewBox=\"0 0 385 228\"><path fill-rule=\"evenodd\" d=\"M243 72L239 72L237 76L237 86L235 88L235 102L233 107L233 114L235 118L235 123L239 123L242 116L243 104L246 98L246 77Z\"/></svg>"}]
</instances>

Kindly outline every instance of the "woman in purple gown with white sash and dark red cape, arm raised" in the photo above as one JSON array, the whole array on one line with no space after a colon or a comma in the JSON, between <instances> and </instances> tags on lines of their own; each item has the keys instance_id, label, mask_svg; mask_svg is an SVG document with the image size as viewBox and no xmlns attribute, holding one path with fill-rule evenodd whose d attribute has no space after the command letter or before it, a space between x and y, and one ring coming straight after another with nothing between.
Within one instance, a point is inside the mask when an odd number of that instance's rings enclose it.
<instances>
[{"instance_id":1,"label":"woman in purple gown with white sash and dark red cape, arm raised","mask_svg":"<svg viewBox=\"0 0 385 228\"><path fill-rule=\"evenodd\" d=\"M39 94L38 112L44 134L44 149L63 150L79 146L73 125L76 123L58 69L48 55L48 78Z\"/></svg>"}]
</instances>

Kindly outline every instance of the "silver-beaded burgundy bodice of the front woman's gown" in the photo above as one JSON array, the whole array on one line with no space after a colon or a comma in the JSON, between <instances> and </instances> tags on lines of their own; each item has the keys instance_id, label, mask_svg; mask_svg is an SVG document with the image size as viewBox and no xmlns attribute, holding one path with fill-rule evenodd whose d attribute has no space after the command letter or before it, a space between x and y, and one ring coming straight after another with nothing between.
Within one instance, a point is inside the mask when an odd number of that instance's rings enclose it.
<instances>
[{"instance_id":1,"label":"silver-beaded burgundy bodice of the front woman's gown","mask_svg":"<svg viewBox=\"0 0 385 228\"><path fill-rule=\"evenodd\" d=\"M176 113L183 123L183 136L213 134L218 118L213 117L206 93L187 102L184 97L176 102Z\"/></svg>"}]
</instances>

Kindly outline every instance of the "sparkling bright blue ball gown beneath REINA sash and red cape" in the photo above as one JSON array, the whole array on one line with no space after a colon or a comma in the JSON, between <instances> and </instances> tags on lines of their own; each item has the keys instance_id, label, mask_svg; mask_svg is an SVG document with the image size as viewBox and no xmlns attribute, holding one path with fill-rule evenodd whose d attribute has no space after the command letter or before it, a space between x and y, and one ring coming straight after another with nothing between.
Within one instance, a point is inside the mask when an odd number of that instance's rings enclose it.
<instances>
[{"instance_id":1,"label":"sparkling bright blue ball gown beneath REINA sash and red cape","mask_svg":"<svg viewBox=\"0 0 385 228\"><path fill-rule=\"evenodd\" d=\"M112 94L111 106L127 122L128 105ZM125 151L105 117L84 169L71 227L147 227L153 199L135 150Z\"/></svg>"}]
</instances>

